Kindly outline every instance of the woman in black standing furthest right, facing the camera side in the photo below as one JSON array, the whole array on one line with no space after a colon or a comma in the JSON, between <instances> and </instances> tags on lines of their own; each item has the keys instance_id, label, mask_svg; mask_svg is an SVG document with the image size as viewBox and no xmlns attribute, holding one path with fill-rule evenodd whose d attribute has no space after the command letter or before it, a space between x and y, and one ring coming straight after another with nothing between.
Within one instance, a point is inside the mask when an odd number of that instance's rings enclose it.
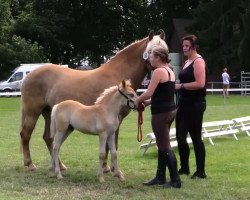
<instances>
[{"instance_id":1,"label":"woman in black standing furthest right, facing the camera side","mask_svg":"<svg viewBox=\"0 0 250 200\"><path fill-rule=\"evenodd\" d=\"M206 64L201 55L197 53L198 44L195 35L185 36L182 39L182 46L187 60L179 74L180 83L175 84L175 89L179 92L176 137L181 168L178 172L180 175L190 174L190 150L186 140L189 133L196 157L196 171L191 178L206 178L206 153L201 133L203 114L206 110Z\"/></svg>"}]
</instances>

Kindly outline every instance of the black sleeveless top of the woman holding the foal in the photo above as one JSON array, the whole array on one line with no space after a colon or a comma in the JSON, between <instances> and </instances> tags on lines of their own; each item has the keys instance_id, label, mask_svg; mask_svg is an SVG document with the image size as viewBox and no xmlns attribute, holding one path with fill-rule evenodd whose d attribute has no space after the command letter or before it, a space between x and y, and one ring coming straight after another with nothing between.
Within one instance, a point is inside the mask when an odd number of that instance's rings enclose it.
<instances>
[{"instance_id":1,"label":"black sleeveless top of the woman holding the foal","mask_svg":"<svg viewBox=\"0 0 250 200\"><path fill-rule=\"evenodd\" d=\"M171 77L169 72L168 74ZM175 82L167 81L159 83L151 97L151 113L157 114L176 109L174 94Z\"/></svg>"}]
</instances>

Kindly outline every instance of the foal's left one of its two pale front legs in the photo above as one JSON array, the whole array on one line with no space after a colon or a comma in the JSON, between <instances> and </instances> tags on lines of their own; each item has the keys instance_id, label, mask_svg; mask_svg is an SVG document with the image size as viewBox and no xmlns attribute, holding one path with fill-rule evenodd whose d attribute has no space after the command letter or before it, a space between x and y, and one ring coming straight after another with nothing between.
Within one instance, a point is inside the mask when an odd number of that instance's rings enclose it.
<instances>
[{"instance_id":1,"label":"foal's left one of its two pale front legs","mask_svg":"<svg viewBox=\"0 0 250 200\"><path fill-rule=\"evenodd\" d=\"M99 169L97 173L97 177L100 182L104 182L103 178L103 163L105 162L106 158L106 142L107 142L107 133L100 133L99 134Z\"/></svg>"}]
</instances>

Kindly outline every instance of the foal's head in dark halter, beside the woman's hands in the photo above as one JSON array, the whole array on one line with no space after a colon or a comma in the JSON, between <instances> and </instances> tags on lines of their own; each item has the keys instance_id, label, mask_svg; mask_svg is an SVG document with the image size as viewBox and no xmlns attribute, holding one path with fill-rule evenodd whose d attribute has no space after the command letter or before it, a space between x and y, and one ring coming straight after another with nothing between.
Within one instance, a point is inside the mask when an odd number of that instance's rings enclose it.
<instances>
[{"instance_id":1,"label":"foal's head in dark halter, beside the woman's hands","mask_svg":"<svg viewBox=\"0 0 250 200\"><path fill-rule=\"evenodd\" d=\"M123 80L118 86L118 91L127 99L127 106L135 109L134 98L137 97L137 94L132 88L130 80Z\"/></svg>"}]
</instances>

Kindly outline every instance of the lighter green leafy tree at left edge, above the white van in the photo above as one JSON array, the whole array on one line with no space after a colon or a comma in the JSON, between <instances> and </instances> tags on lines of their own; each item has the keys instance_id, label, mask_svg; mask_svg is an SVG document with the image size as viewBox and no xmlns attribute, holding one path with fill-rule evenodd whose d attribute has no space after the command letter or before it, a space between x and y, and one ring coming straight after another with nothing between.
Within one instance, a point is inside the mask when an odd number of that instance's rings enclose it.
<instances>
[{"instance_id":1,"label":"lighter green leafy tree at left edge, above the white van","mask_svg":"<svg viewBox=\"0 0 250 200\"><path fill-rule=\"evenodd\" d=\"M20 63L41 62L42 48L13 33L11 6L15 1L0 0L0 78L5 78Z\"/></svg>"}]
</instances>

